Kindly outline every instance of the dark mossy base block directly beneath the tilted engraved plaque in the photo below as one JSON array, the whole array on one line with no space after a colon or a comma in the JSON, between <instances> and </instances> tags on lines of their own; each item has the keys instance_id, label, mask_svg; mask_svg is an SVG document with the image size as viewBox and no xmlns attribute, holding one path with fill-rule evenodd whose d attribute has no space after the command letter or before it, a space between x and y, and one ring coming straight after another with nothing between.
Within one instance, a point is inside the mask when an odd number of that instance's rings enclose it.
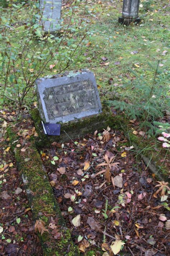
<instances>
[{"instance_id":1,"label":"dark mossy base block directly beneath the tilted engraved plaque","mask_svg":"<svg viewBox=\"0 0 170 256\"><path fill-rule=\"evenodd\" d=\"M82 138L88 133L94 133L95 130L102 130L107 126L114 126L114 118L108 108L103 108L103 112L94 116L81 118L77 121L70 121L67 123L61 123L61 134L60 136L51 136L44 134L41 117L37 108L31 111L31 117L34 121L37 133L38 147L43 145L50 145L52 142L65 143L70 139L75 140Z\"/></svg>"}]
</instances>

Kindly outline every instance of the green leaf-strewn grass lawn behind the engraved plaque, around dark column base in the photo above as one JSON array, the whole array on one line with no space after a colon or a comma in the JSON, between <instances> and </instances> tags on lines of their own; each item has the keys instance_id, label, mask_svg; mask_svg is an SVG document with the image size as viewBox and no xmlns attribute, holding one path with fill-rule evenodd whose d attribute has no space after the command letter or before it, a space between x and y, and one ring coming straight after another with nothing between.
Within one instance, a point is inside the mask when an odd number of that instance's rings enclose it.
<instances>
[{"instance_id":1,"label":"green leaf-strewn grass lawn behind the engraved plaque, around dark column base","mask_svg":"<svg viewBox=\"0 0 170 256\"><path fill-rule=\"evenodd\" d=\"M151 85L151 78L154 76L148 65L152 64L156 68L157 61L160 60L164 66L160 67L161 71L167 72L170 66L169 53L162 55L164 50L168 50L170 45L170 32L167 20L168 1L154 1L150 8L146 11L140 8L139 17L142 22L136 26L131 24L129 27L118 23L118 17L121 15L122 2L114 4L107 2L96 3L92 1L89 3L89 8L95 10L96 18L93 19L90 31L93 35L86 38L85 44L88 45L81 49L72 58L70 70L89 68L95 73L96 82L100 92L101 100L105 99L128 99L128 94L132 94L132 90L125 90L121 87L122 80L134 80L136 77L132 74L130 69L133 69L138 75L143 77ZM80 17L81 6L84 1L80 2L80 8L76 11L75 17ZM65 9L63 9L63 12ZM4 10L3 10L4 12ZM88 14L85 14L86 18ZM11 31L11 44L17 45L17 41L22 40L25 32L25 23L29 21L30 9L29 6L23 6L22 9L16 10L14 31ZM74 34L70 35L70 38ZM38 48L38 41L30 48ZM159 50L160 49L160 50ZM63 45L63 53L67 48ZM132 51L138 51L137 54L132 55ZM107 57L109 62L107 66L100 64L103 62L101 57ZM115 65L115 62L120 62ZM53 64L53 62L49 63ZM49 66L44 70L42 76L54 74L57 66L51 71ZM137 65L137 66L136 66ZM113 83L108 83L109 78L113 78ZM136 97L135 92L134 97ZM31 96L31 97L30 97ZM26 98L27 105L36 101L34 90L30 91Z\"/></svg>"}]
</instances>

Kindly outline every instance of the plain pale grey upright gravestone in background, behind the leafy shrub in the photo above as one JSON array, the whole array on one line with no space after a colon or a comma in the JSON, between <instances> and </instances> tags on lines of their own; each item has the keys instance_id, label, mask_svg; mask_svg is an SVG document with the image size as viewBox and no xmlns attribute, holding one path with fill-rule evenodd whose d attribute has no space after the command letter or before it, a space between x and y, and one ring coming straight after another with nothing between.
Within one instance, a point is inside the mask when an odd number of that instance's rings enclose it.
<instances>
[{"instance_id":1,"label":"plain pale grey upright gravestone in background, behind the leafy shrub","mask_svg":"<svg viewBox=\"0 0 170 256\"><path fill-rule=\"evenodd\" d=\"M61 18L61 2L62 0L40 0L40 7L43 10L42 25L44 32L58 30L57 25ZM44 20L44 18L48 20Z\"/></svg>"}]
</instances>

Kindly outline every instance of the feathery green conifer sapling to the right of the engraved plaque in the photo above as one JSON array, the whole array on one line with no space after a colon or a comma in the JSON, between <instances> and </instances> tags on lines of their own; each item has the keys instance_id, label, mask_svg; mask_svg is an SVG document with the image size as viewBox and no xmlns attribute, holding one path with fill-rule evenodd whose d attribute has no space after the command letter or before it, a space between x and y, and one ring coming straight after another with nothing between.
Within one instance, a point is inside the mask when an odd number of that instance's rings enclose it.
<instances>
[{"instance_id":1,"label":"feathery green conifer sapling to the right of the engraved plaque","mask_svg":"<svg viewBox=\"0 0 170 256\"><path fill-rule=\"evenodd\" d=\"M128 91L127 97L125 97L126 93L122 91L121 96L124 98L123 101L107 101L108 105L114 106L115 109L120 109L129 118L140 118L140 128L146 127L152 134L155 130L154 121L163 117L164 113L170 107L170 98L168 95L170 72L160 72L158 67L159 63L157 64L151 85L148 84L143 75L139 76L131 70L135 79L132 82L124 81L123 85L123 89ZM129 94L130 90L133 93Z\"/></svg>"}]
</instances>

